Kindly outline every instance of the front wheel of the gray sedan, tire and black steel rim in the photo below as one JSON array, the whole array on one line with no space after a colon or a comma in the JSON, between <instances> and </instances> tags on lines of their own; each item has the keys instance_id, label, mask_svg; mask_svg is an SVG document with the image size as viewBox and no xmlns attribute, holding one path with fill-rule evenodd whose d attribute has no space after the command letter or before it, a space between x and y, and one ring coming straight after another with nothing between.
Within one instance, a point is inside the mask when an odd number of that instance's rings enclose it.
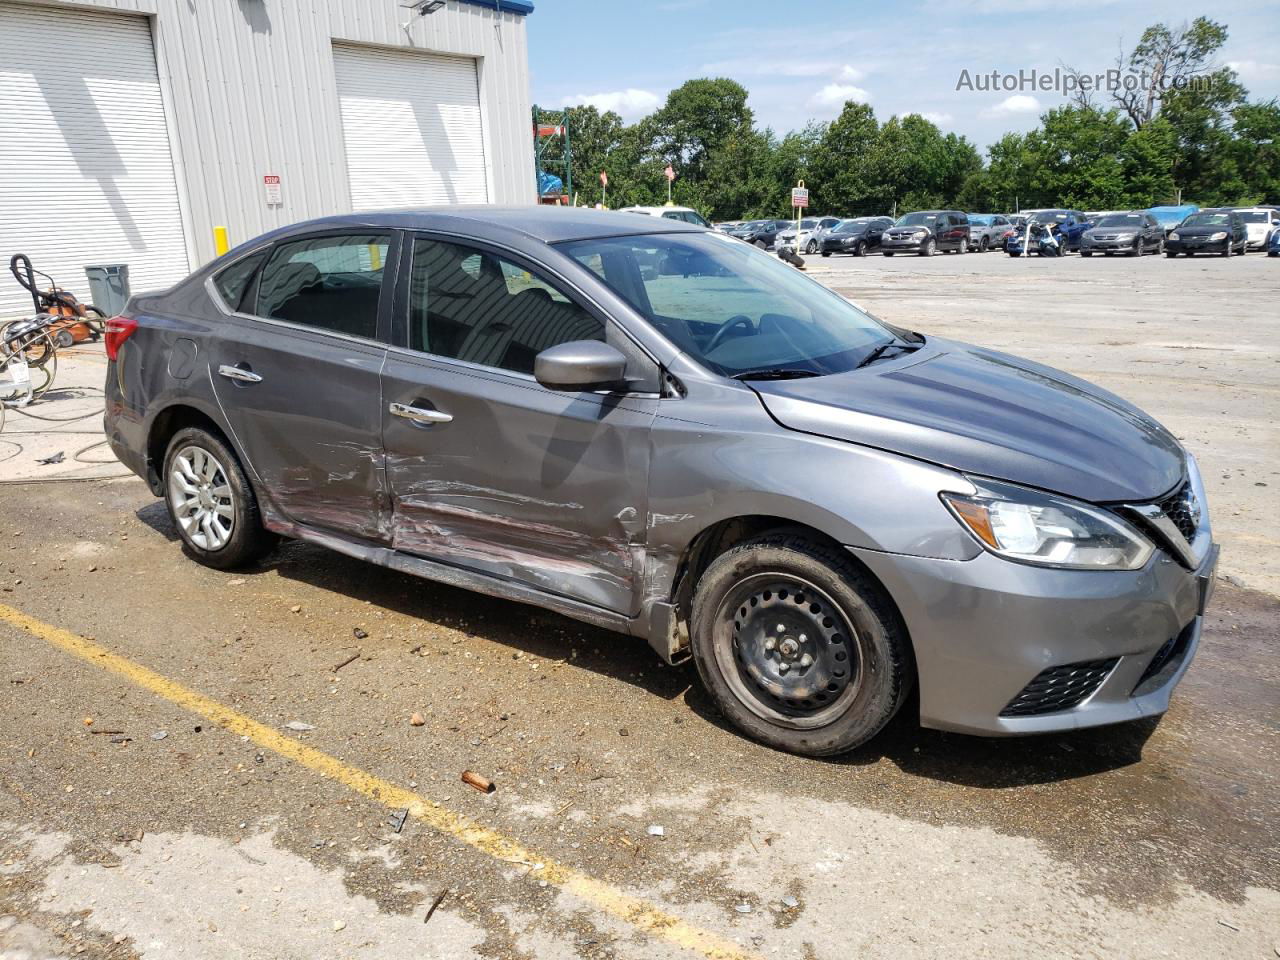
<instances>
[{"instance_id":1,"label":"front wheel of the gray sedan, tire and black steel rim","mask_svg":"<svg viewBox=\"0 0 1280 960\"><path fill-rule=\"evenodd\" d=\"M780 750L852 750L911 689L910 643L888 594L842 552L803 535L762 536L721 554L698 581L690 626L716 705Z\"/></svg>"}]
</instances>

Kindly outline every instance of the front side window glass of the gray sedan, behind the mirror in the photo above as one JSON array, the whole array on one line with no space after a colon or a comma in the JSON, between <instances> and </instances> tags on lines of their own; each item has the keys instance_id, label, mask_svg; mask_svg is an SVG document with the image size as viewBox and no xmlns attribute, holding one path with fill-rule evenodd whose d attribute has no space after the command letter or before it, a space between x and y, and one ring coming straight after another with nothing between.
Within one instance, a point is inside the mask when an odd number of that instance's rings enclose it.
<instances>
[{"instance_id":1,"label":"front side window glass of the gray sedan, behind the mirror","mask_svg":"<svg viewBox=\"0 0 1280 960\"><path fill-rule=\"evenodd\" d=\"M534 357L603 340L604 324L531 270L488 251L413 241L410 347L451 360L534 372Z\"/></svg>"}]
</instances>

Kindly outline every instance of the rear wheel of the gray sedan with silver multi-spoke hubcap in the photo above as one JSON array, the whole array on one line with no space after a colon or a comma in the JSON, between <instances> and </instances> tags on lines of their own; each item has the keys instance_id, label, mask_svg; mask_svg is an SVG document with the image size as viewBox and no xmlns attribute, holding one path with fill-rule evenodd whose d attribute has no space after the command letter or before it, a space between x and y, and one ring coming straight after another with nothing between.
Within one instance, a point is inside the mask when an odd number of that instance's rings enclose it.
<instances>
[{"instance_id":1,"label":"rear wheel of the gray sedan with silver multi-spoke hubcap","mask_svg":"<svg viewBox=\"0 0 1280 960\"><path fill-rule=\"evenodd\" d=\"M196 562L230 570L261 559L275 547L275 534L262 526L253 488L221 438L198 426L175 433L165 452L163 479L169 518Z\"/></svg>"}]
</instances>

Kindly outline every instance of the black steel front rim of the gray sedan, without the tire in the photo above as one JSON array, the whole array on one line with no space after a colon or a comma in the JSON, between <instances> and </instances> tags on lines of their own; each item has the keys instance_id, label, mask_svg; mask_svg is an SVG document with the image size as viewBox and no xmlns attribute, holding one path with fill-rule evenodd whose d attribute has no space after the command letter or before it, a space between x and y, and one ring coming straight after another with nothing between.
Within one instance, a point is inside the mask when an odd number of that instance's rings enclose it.
<instances>
[{"instance_id":1,"label":"black steel front rim of the gray sedan, without the tire","mask_svg":"<svg viewBox=\"0 0 1280 960\"><path fill-rule=\"evenodd\" d=\"M840 717L861 686L858 635L823 590L796 576L735 584L716 622L716 660L737 699L771 723L809 730Z\"/></svg>"}]
</instances>

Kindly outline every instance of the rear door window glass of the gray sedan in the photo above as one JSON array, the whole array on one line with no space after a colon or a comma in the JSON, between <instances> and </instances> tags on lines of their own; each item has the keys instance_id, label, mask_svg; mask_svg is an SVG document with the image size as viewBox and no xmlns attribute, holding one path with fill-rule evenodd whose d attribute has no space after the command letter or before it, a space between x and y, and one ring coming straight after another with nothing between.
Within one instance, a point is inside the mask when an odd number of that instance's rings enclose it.
<instances>
[{"instance_id":1,"label":"rear door window glass of the gray sedan","mask_svg":"<svg viewBox=\"0 0 1280 960\"><path fill-rule=\"evenodd\" d=\"M388 243L375 233L280 243L262 268L257 315L374 339Z\"/></svg>"}]
</instances>

